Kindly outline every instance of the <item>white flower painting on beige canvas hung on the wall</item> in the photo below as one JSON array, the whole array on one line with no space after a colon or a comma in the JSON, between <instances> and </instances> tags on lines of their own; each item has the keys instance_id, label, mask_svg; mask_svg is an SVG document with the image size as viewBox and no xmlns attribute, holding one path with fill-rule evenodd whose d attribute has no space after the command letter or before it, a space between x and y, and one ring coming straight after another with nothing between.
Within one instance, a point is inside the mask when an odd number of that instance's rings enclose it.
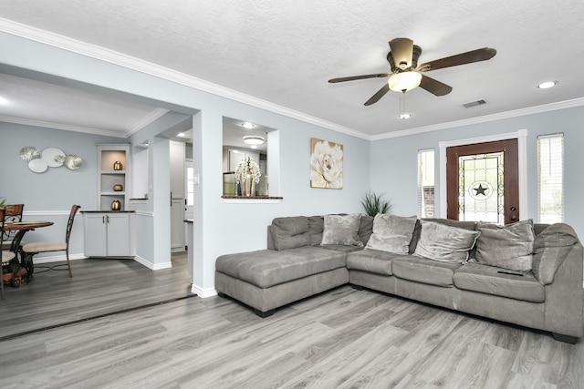
<instances>
[{"instance_id":1,"label":"white flower painting on beige canvas hung on the wall","mask_svg":"<svg viewBox=\"0 0 584 389\"><path fill-rule=\"evenodd\" d=\"M343 188L343 145L317 138L311 139L310 186Z\"/></svg>"}]
</instances>

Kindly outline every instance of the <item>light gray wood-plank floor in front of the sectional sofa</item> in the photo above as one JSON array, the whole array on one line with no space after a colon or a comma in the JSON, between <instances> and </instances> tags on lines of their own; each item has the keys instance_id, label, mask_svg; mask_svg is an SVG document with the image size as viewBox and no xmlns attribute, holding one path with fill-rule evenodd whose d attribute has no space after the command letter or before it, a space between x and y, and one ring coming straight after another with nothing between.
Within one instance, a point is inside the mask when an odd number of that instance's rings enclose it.
<instances>
[{"instance_id":1,"label":"light gray wood-plank floor in front of the sectional sofa","mask_svg":"<svg viewBox=\"0 0 584 389\"><path fill-rule=\"evenodd\" d=\"M584 345L343 286L266 319L193 297L0 341L0 387L582 388Z\"/></svg>"}]
</instances>

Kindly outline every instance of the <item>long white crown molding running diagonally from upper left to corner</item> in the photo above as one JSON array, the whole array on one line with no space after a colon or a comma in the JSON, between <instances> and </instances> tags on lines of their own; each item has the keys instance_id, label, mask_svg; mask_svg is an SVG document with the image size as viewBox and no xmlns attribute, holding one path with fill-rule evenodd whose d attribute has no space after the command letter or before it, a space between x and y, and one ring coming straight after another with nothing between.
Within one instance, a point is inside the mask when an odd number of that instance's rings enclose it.
<instances>
[{"instance_id":1,"label":"long white crown molding running diagonally from upper left to corner","mask_svg":"<svg viewBox=\"0 0 584 389\"><path fill-rule=\"evenodd\" d=\"M203 92L208 92L220 97L226 97L249 106L266 109L267 111L274 112L288 118L296 118L297 120L314 124L318 127L332 129L334 131L338 131L357 138L364 138L368 140L370 139L369 134L365 134L361 131L339 126L338 124L329 122L327 120L315 118L297 110L283 107L261 98L238 92L228 87L222 87L209 81L205 81L201 78L192 77L167 67L160 67L151 64L150 62L143 61L133 56L127 56L101 46L80 42L67 36L60 36L58 34L50 33L35 27L26 26L1 17L0 31L33 40L48 46L54 46L60 49L68 50L72 53L76 53L82 56L89 56L91 58L109 62L113 65L136 70L153 77L166 79L168 81L181 84L185 87L193 87L195 89L202 90ZM117 136L120 137L119 134Z\"/></svg>"}]
</instances>

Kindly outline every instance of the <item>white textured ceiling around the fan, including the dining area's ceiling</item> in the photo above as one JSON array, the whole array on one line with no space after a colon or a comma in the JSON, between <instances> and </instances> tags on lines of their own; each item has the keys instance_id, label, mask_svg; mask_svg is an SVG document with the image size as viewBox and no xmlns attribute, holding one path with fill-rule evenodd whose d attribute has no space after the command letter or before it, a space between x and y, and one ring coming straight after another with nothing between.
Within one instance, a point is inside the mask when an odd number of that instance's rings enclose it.
<instances>
[{"instance_id":1,"label":"white textured ceiling around the fan, including the dining area's ceiling","mask_svg":"<svg viewBox=\"0 0 584 389\"><path fill-rule=\"evenodd\" d=\"M97 54L105 48L114 58L131 56L212 83L214 93L363 138L584 105L583 20L581 0L0 0L0 31L33 27L48 40L81 41ZM422 47L420 64L485 46L497 54L426 73L454 89L444 97L408 92L408 120L397 118L397 92L363 106L385 78L327 82L390 72L388 41L399 36ZM558 86L538 89L545 80ZM124 137L164 112L12 76L0 83L0 97L16 101L0 105L4 121ZM486 104L462 107L479 99Z\"/></svg>"}]
</instances>

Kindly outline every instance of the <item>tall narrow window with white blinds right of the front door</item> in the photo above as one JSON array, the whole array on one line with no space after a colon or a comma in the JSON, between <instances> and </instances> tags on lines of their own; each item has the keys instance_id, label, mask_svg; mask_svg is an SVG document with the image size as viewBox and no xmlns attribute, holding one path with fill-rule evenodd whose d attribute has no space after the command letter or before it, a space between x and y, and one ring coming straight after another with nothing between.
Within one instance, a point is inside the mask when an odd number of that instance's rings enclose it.
<instances>
[{"instance_id":1,"label":"tall narrow window with white blinds right of the front door","mask_svg":"<svg viewBox=\"0 0 584 389\"><path fill-rule=\"evenodd\" d=\"M564 221L564 134L537 137L540 223Z\"/></svg>"}]
</instances>

